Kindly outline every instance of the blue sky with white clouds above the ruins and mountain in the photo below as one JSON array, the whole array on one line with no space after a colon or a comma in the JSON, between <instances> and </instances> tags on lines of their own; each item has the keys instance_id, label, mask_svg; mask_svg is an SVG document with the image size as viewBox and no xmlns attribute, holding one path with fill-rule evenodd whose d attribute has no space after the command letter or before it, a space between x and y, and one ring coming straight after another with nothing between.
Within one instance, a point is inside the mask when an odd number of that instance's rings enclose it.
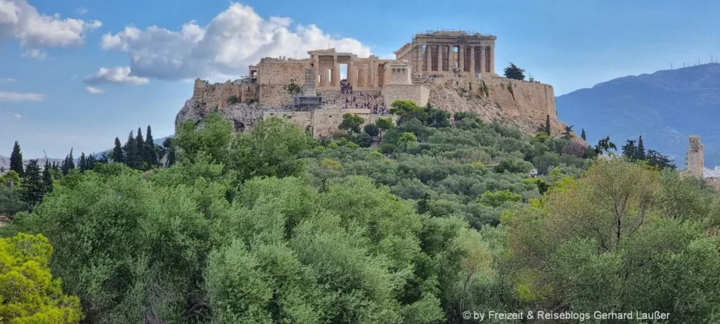
<instances>
[{"instance_id":1,"label":"blue sky with white clouds above the ruins and mountain","mask_svg":"<svg viewBox=\"0 0 720 324\"><path fill-rule=\"evenodd\" d=\"M150 125L174 133L192 80L235 80L263 57L392 54L413 35L496 35L559 96L720 55L720 1L0 0L0 155L99 152ZM45 152L45 153L44 153Z\"/></svg>"}]
</instances>

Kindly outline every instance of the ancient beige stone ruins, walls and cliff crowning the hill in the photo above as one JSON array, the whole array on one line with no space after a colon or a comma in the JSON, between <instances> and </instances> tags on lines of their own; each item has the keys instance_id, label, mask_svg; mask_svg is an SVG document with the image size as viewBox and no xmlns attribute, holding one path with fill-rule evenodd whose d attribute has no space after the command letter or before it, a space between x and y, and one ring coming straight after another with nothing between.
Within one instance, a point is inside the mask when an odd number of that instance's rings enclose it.
<instances>
[{"instance_id":1,"label":"ancient beige stone ruins, walls and cliff crowning the hill","mask_svg":"<svg viewBox=\"0 0 720 324\"><path fill-rule=\"evenodd\" d=\"M235 130L247 130L269 117L292 120L315 136L338 132L343 114L358 114L367 122L387 116L395 100L411 100L451 112L474 111L486 120L524 118L526 129L556 122L552 86L512 81L495 73L493 35L456 31L418 34L395 52L395 60L375 55L359 58L334 48L311 50L309 58L262 58L248 67L248 76L223 84L197 79L191 99L176 117L176 127L186 120L201 123L212 111L233 120ZM342 71L341 71L342 70ZM351 84L343 94L341 84ZM482 103L468 105L448 96L444 87L470 89ZM353 99L356 99L353 103ZM377 107L377 109L374 109ZM497 116L496 116L497 115ZM392 117L392 116L390 116Z\"/></svg>"}]
</instances>

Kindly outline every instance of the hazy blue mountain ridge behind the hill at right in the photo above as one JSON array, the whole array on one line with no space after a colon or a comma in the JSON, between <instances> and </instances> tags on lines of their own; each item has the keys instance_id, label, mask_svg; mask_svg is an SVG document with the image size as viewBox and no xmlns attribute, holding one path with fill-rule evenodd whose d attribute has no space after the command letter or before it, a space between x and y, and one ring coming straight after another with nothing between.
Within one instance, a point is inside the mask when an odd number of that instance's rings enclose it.
<instances>
[{"instance_id":1,"label":"hazy blue mountain ridge behind the hill at right","mask_svg":"<svg viewBox=\"0 0 720 324\"><path fill-rule=\"evenodd\" d=\"M587 133L588 143L609 135L624 145L642 135L652 148L685 166L688 136L700 135L705 165L720 165L720 64L708 63L616 78L555 99L558 119Z\"/></svg>"}]
</instances>

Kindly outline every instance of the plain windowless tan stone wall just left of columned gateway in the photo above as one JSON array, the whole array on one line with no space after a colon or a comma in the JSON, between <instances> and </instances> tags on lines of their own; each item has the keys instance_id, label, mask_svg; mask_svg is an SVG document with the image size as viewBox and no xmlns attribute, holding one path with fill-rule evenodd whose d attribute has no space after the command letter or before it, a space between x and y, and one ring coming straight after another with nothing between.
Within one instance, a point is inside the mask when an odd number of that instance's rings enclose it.
<instances>
[{"instance_id":1,"label":"plain windowless tan stone wall just left of columned gateway","mask_svg":"<svg viewBox=\"0 0 720 324\"><path fill-rule=\"evenodd\" d=\"M305 68L310 68L310 59L279 60L263 59L258 64L258 84L305 84Z\"/></svg>"}]
</instances>

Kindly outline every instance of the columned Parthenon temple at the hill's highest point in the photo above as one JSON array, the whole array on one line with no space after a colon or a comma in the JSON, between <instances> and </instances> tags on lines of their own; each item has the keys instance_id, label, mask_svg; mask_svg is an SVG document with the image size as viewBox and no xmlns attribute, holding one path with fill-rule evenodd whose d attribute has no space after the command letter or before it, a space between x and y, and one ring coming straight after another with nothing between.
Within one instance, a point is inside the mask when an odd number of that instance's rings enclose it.
<instances>
[{"instance_id":1,"label":"columned Parthenon temple at the hill's highest point","mask_svg":"<svg viewBox=\"0 0 720 324\"><path fill-rule=\"evenodd\" d=\"M488 73L495 76L497 36L463 31L418 34L395 52L397 60L408 60L417 73Z\"/></svg>"}]
</instances>

